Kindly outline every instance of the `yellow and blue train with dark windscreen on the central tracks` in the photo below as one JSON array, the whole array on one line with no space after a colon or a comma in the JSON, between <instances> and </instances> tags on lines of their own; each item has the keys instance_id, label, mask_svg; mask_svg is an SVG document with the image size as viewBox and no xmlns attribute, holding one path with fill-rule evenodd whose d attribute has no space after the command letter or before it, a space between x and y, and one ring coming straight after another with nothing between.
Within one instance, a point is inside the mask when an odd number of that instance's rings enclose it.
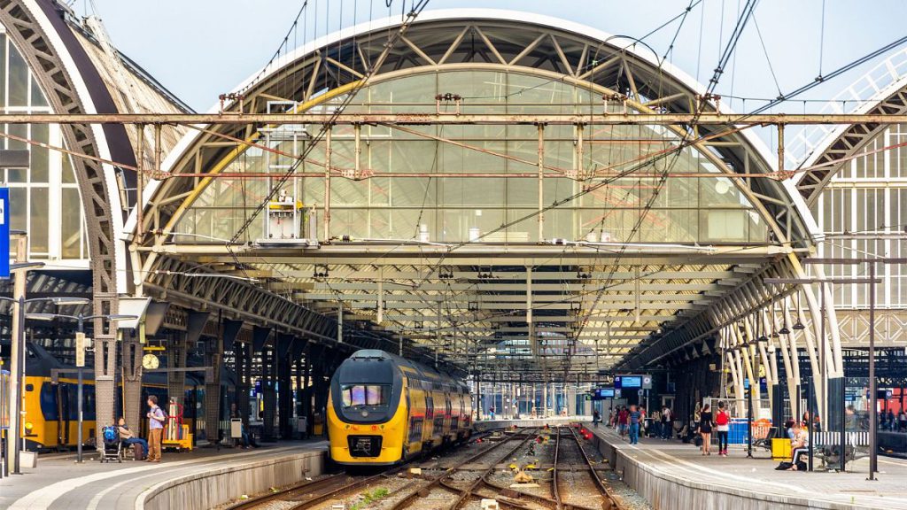
<instances>
[{"instance_id":1,"label":"yellow and blue train with dark windscreen on the central tracks","mask_svg":"<svg viewBox=\"0 0 907 510\"><path fill-rule=\"evenodd\" d=\"M397 464L462 442L472 427L463 381L385 351L356 351L331 380L327 436L337 464Z\"/></svg>"}]
</instances>

